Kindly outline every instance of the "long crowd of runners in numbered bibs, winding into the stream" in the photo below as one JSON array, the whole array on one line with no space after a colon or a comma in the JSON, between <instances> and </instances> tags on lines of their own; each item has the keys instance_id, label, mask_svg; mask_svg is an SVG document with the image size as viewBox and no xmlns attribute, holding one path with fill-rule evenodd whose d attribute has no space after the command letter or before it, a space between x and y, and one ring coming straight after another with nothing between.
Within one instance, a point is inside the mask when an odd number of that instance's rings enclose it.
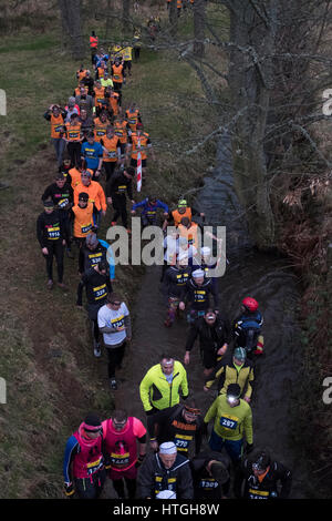
<instances>
[{"instance_id":1,"label":"long crowd of runners in numbered bibs, winding into the stream","mask_svg":"<svg viewBox=\"0 0 332 521\"><path fill-rule=\"evenodd\" d=\"M120 499L288 498L291 471L264 448L253 447L255 360L263 354L258 302L247 296L239 302L239 315L229 320L219 309L218 277L210 276L221 260L219 239L212 236L212 248L199 242L204 213L180 194L174 210L154 195L139 201L139 176L143 183L147 178L147 186L148 161L155 157L144 114L125 95L126 78L135 78L133 52L134 61L139 60L139 32L133 43L107 51L92 32L90 44L90 69L81 64L68 101L44 113L56 157L56 174L41 195L43 212L37 219L46 287L54 287L55 258L56 285L66 290L64 255L77 258L76 305L82 307L85 289L92 349L96 358L106 350L115 392L132 325L127 305L112 287L114 258L112 246L101 238L101 225L121 222L131 234L131 215L139 213L143 227L159 224L164 231L160 283L166 306L160 327L170 328L181 317L187 340L181 355L160 353L159 362L142 375L137 400L144 421L129 415L131 403L106 419L87 413L65 446L65 494L96 499L110 478ZM205 413L187 380L196 340L204 390L217 389Z\"/></svg>"}]
</instances>

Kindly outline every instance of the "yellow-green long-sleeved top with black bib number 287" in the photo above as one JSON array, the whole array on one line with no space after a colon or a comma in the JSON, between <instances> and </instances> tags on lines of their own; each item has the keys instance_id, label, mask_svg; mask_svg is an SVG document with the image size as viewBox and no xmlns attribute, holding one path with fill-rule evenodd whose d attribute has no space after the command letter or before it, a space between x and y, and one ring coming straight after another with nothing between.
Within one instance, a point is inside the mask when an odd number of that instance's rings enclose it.
<instances>
[{"instance_id":1,"label":"yellow-green long-sleeved top with black bib number 287","mask_svg":"<svg viewBox=\"0 0 332 521\"><path fill-rule=\"evenodd\" d=\"M252 443L252 413L247 401L230 407L226 395L219 395L207 411L204 421L208 423L215 418L214 430L226 440L237 441L246 436L248 443Z\"/></svg>"}]
</instances>

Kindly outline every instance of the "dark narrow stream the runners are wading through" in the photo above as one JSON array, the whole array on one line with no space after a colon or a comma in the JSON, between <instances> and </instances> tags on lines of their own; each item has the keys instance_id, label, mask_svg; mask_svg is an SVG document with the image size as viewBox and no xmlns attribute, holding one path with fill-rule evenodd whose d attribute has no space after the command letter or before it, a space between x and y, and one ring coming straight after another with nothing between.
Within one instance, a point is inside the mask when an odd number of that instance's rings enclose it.
<instances>
[{"instance_id":1,"label":"dark narrow stream the runners are wading through","mask_svg":"<svg viewBox=\"0 0 332 521\"><path fill-rule=\"evenodd\" d=\"M295 319L299 302L297 278L284 258L258 253L252 247L235 196L229 157L228 140L225 137L219 146L219 166L205 178L195 206L206 213L208 224L227 226L229 264L225 275L219 278L220 309L232 319L238 313L240 300L250 295L259 302L264 317L264 355L256 361L251 401L255 447L270 449L277 459L292 469L291 498L303 499L305 468L297 460L289 410L292 389L300 377L297 368L301 359L300 330ZM188 330L185 319L177 319L169 329L164 326L166 306L159 277L160 266L146 268L141 290L131 309L133 340L127 346L123 369L117 374L120 387L114 391L115 406L126 407L129 415L143 421L145 413L139 399L139 382L146 371L159 361L163 353L173 354L183 361ZM203 390L198 341L186 369L190 394L196 397L205 415L216 391L207 394ZM103 376L106 376L106 368Z\"/></svg>"}]
</instances>

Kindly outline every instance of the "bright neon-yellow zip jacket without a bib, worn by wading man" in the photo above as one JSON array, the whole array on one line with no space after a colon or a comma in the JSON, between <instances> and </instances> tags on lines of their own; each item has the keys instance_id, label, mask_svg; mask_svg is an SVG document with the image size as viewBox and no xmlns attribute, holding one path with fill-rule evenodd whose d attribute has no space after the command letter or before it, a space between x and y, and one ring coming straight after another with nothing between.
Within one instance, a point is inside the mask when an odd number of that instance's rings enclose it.
<instances>
[{"instance_id":1,"label":"bright neon-yellow zip jacket without a bib, worn by wading man","mask_svg":"<svg viewBox=\"0 0 332 521\"><path fill-rule=\"evenodd\" d=\"M187 371L184 366L175 360L172 384L168 384L162 370L160 364L153 366L139 385L139 395L145 411L153 407L166 409L179 403L179 396L186 398L189 394Z\"/></svg>"}]
</instances>

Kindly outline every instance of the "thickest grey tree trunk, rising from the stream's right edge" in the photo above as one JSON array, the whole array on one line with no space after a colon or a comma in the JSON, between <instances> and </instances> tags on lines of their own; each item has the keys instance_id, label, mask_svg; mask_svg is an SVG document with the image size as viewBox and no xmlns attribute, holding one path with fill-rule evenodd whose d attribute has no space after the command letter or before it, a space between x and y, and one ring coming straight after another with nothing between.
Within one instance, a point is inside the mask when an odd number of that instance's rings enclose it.
<instances>
[{"instance_id":1,"label":"thickest grey tree trunk, rising from the stream's right edge","mask_svg":"<svg viewBox=\"0 0 332 521\"><path fill-rule=\"evenodd\" d=\"M259 2L267 22L247 0L232 1L230 10L229 85L236 123L232 136L235 186L246 210L257 246L273 246L274 222L267 180L264 133L269 111L276 31L276 0ZM236 114L240 114L236 116Z\"/></svg>"}]
</instances>

